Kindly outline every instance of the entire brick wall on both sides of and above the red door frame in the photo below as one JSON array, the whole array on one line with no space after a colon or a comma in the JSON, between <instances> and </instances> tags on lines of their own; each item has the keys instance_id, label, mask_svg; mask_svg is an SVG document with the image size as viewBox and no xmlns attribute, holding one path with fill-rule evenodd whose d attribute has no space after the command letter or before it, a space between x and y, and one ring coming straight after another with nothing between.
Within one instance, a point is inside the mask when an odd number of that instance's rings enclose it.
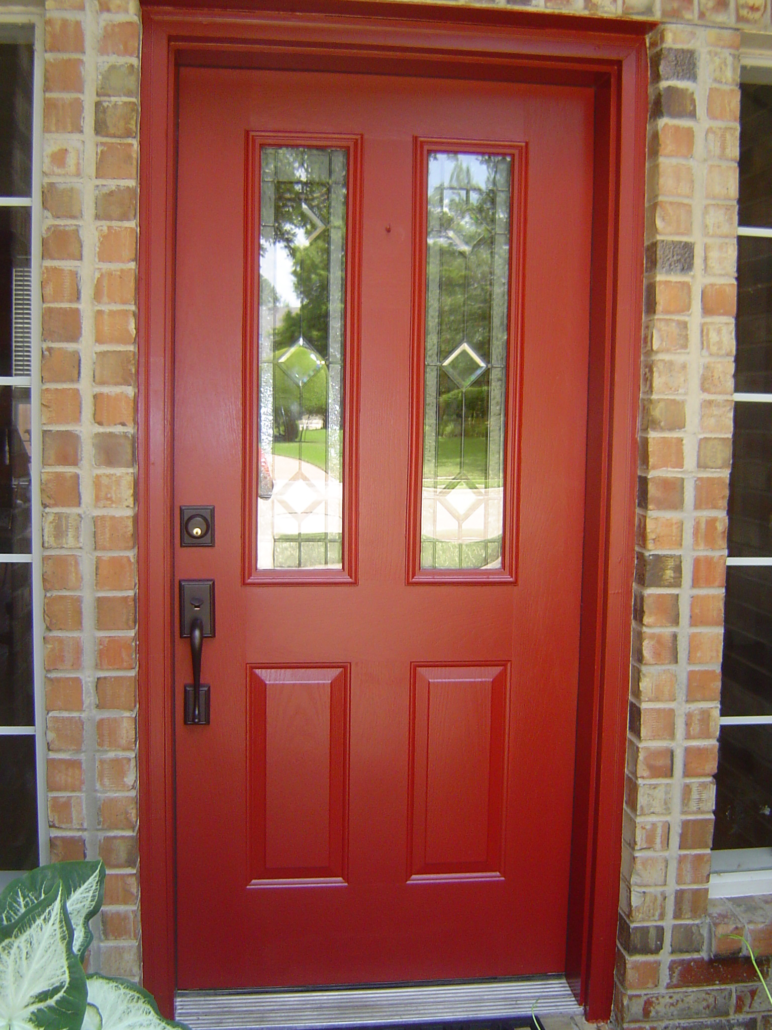
<instances>
[{"instance_id":1,"label":"entire brick wall on both sides of and above the red door frame","mask_svg":"<svg viewBox=\"0 0 772 1030\"><path fill-rule=\"evenodd\" d=\"M532 6L671 23L651 39L616 1019L720 1027L737 1012L756 1030L748 1006L760 1004L758 992L736 986L749 982L747 963L706 960L705 915L732 432L739 33L731 27L769 31L770 6ZM92 965L135 977L139 38L136 0L48 0L42 493L51 855L105 859Z\"/></svg>"}]
</instances>

